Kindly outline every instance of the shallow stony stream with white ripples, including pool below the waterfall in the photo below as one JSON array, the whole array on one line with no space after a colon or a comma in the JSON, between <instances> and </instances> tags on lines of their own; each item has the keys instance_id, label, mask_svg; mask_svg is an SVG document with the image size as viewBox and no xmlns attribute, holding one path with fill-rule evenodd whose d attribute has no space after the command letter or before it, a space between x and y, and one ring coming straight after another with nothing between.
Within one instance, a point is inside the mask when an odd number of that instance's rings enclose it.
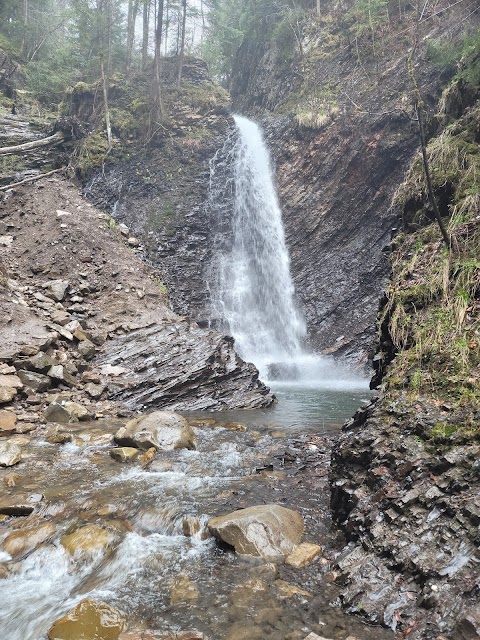
<instances>
[{"instance_id":1,"label":"shallow stony stream with white ripples, including pool below the waterfall","mask_svg":"<svg viewBox=\"0 0 480 640\"><path fill-rule=\"evenodd\" d=\"M197 629L211 640L392 637L331 606L342 541L328 515L329 447L368 395L345 386L280 384L274 409L187 413L196 450L159 453L146 469L110 458L122 421L69 425L73 441L61 447L32 440L15 491L43 498L15 526L46 520L55 533L25 557L0 554L2 637L43 640L86 596L127 613L130 628ZM204 539L210 517L271 502L298 510L305 539L322 546L310 567L252 563ZM112 542L72 558L60 540L87 524L106 527Z\"/></svg>"}]
</instances>

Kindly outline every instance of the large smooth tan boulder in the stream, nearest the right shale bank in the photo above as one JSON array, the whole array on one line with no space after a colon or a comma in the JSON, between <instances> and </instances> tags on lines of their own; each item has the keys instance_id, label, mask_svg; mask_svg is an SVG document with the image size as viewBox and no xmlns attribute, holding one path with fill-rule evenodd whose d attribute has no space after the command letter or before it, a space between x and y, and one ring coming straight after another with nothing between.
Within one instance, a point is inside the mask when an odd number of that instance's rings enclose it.
<instances>
[{"instance_id":1,"label":"large smooth tan boulder in the stream, nearest the right shale bank","mask_svg":"<svg viewBox=\"0 0 480 640\"><path fill-rule=\"evenodd\" d=\"M239 555L284 560L302 539L304 524L296 511L278 504L240 509L208 522L210 532Z\"/></svg>"}]
</instances>

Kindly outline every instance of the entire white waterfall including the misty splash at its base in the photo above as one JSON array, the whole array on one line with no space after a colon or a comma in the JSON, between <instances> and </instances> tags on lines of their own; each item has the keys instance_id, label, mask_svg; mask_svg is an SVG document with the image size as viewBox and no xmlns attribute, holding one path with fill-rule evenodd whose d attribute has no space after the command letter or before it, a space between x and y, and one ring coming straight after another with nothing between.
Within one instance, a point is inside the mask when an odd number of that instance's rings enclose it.
<instances>
[{"instance_id":1,"label":"entire white waterfall including the misty splash at its base","mask_svg":"<svg viewBox=\"0 0 480 640\"><path fill-rule=\"evenodd\" d=\"M232 167L232 240L218 252L214 269L215 314L242 358L285 399L288 388L365 393L364 377L304 347L306 324L295 303L269 151L255 122L239 115L234 120L236 131L223 149L223 162ZM215 160L211 169L211 191L218 196Z\"/></svg>"}]
</instances>

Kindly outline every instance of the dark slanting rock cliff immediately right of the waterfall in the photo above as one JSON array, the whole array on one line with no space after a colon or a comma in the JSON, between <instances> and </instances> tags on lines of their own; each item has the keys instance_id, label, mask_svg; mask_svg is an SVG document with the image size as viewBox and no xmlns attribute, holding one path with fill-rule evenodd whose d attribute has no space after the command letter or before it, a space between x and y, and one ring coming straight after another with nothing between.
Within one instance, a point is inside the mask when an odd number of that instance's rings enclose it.
<instances>
[{"instance_id":1,"label":"dark slanting rock cliff immediately right of the waterfall","mask_svg":"<svg viewBox=\"0 0 480 640\"><path fill-rule=\"evenodd\" d=\"M466 18L463 8L444 12L425 21L422 37L455 39ZM354 46L342 20L333 13L307 26L303 54L288 60L264 25L238 52L232 98L265 123L310 341L361 365L375 343L385 252L399 225L391 197L418 147L402 35L412 22L395 17L372 55L365 39ZM440 77L422 47L416 73L433 108L448 74Z\"/></svg>"}]
</instances>

